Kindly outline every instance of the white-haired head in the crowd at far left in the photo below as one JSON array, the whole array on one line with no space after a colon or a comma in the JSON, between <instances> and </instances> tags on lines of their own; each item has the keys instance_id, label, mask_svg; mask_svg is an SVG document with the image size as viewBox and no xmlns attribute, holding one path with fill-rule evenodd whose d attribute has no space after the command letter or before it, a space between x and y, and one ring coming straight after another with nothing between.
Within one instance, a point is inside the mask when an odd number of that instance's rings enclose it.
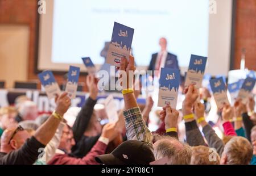
<instances>
[{"instance_id":1,"label":"white-haired head in the crowd at far left","mask_svg":"<svg viewBox=\"0 0 256 176\"><path fill-rule=\"evenodd\" d=\"M20 104L19 115L23 120L35 120L38 117L38 108L32 101L25 101Z\"/></svg>"}]
</instances>

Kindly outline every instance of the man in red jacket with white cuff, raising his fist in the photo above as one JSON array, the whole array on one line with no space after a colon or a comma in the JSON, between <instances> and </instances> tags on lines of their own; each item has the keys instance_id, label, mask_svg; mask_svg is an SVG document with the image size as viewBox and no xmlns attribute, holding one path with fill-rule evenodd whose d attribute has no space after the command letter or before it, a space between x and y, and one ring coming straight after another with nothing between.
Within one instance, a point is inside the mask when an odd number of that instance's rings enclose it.
<instances>
[{"instance_id":1,"label":"man in red jacket with white cuff, raising his fist","mask_svg":"<svg viewBox=\"0 0 256 176\"><path fill-rule=\"evenodd\" d=\"M66 124L63 128L59 150L57 154L48 162L50 165L92 165L97 164L94 158L98 155L105 154L106 148L118 134L115 124L106 124L102 129L100 138L97 140L93 148L82 158L76 158L70 154L71 148L75 145L73 132Z\"/></svg>"}]
</instances>

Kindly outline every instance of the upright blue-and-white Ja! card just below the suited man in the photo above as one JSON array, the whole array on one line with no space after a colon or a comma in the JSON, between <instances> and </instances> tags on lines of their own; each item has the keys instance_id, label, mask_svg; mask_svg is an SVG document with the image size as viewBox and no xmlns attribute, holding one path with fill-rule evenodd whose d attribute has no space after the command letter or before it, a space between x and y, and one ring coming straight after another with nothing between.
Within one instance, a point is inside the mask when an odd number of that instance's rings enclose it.
<instances>
[{"instance_id":1,"label":"upright blue-and-white Ja! card just below the suited man","mask_svg":"<svg viewBox=\"0 0 256 176\"><path fill-rule=\"evenodd\" d=\"M172 108L176 108L179 84L180 71L178 69L161 68L158 93L159 107L170 104Z\"/></svg>"}]
</instances>

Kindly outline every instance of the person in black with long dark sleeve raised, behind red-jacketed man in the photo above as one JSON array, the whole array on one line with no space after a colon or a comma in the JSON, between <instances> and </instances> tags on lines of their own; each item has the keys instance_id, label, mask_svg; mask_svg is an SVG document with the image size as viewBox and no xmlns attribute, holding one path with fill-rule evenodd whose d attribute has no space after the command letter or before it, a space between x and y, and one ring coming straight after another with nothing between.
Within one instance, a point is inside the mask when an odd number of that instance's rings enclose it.
<instances>
[{"instance_id":1,"label":"person in black with long dark sleeve raised, behind red-jacketed man","mask_svg":"<svg viewBox=\"0 0 256 176\"><path fill-rule=\"evenodd\" d=\"M79 158L84 157L92 149L101 133L100 121L93 114L98 95L97 82L93 75L89 74L86 77L86 85L89 89L89 97L82 106L72 127L76 143L72 147L72 154Z\"/></svg>"}]
</instances>

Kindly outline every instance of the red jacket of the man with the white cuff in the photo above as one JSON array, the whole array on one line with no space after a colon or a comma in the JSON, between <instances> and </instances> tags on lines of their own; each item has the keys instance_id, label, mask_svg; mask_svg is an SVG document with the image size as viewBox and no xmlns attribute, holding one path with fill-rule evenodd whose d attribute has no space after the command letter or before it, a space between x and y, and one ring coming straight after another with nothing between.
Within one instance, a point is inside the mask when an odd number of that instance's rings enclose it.
<instances>
[{"instance_id":1,"label":"red jacket of the man with the white cuff","mask_svg":"<svg viewBox=\"0 0 256 176\"><path fill-rule=\"evenodd\" d=\"M107 145L101 141L93 146L86 156L83 158L74 158L68 156L68 154L55 154L55 156L48 162L48 165L97 165L95 157L101 154L105 154Z\"/></svg>"}]
</instances>

